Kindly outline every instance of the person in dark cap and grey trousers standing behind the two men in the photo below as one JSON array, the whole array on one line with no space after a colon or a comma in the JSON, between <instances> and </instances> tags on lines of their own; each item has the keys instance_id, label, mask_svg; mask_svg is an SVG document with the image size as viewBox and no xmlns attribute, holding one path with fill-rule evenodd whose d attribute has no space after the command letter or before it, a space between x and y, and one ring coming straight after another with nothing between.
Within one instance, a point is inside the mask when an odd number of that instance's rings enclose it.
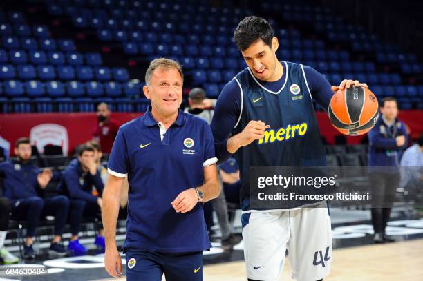
<instances>
[{"instance_id":1,"label":"person in dark cap and grey trousers standing behind the two men","mask_svg":"<svg viewBox=\"0 0 423 281\"><path fill-rule=\"evenodd\" d=\"M214 111L210 107L216 105L216 99L207 99L205 90L202 88L191 89L188 95L188 104L189 107L185 108L185 113L189 113L200 119L203 119L209 125L212 123ZM221 185L222 181L220 177L219 182ZM222 233L222 249L230 250L234 247L234 245L241 242L241 237L232 235L231 233L229 217L227 214L227 202L225 199L225 193L220 192L220 195L211 202L213 208L216 211L220 231ZM208 208L207 204L210 203L205 203L205 220L207 222L207 226L210 228L213 225L213 213L212 208Z\"/></svg>"}]
</instances>

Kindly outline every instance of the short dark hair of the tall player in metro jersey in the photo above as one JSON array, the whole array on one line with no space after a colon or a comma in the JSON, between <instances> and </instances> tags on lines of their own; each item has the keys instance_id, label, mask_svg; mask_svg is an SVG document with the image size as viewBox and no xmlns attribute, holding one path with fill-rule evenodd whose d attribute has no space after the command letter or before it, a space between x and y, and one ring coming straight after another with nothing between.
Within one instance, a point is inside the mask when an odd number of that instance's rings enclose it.
<instances>
[{"instance_id":1,"label":"short dark hair of the tall player in metro jersey","mask_svg":"<svg viewBox=\"0 0 423 281\"><path fill-rule=\"evenodd\" d=\"M274 31L272 26L263 18L251 16L246 17L235 29L234 41L239 50L246 50L250 45L259 39L272 47Z\"/></svg>"}]
</instances>

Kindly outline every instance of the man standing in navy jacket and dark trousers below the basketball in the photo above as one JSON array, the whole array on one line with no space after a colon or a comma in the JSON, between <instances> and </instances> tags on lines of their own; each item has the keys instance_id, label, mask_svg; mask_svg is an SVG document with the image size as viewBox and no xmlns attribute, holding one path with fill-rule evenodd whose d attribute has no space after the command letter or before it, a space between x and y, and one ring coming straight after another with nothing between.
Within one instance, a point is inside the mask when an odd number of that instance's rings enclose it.
<instances>
[{"instance_id":1,"label":"man standing in navy jacket and dark trousers below the basketball","mask_svg":"<svg viewBox=\"0 0 423 281\"><path fill-rule=\"evenodd\" d=\"M381 117L368 133L370 144L369 166L400 166L402 151L406 147L407 133L404 122L397 119L397 101L393 97L382 100ZM393 242L385 229L391 215L392 200L399 176L388 168L378 168L370 173L372 184L372 223L375 243ZM384 206L384 208L381 208Z\"/></svg>"}]
</instances>

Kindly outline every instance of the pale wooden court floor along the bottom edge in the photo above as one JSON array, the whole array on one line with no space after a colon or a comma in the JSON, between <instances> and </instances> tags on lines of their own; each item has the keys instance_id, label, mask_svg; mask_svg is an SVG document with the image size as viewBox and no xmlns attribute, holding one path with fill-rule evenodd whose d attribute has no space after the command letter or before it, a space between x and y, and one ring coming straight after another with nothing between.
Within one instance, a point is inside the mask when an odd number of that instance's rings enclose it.
<instances>
[{"instance_id":1,"label":"pale wooden court floor along the bottom edge","mask_svg":"<svg viewBox=\"0 0 423 281\"><path fill-rule=\"evenodd\" d=\"M126 278L119 280L126 280ZM225 262L207 265L204 268L204 281L245 280L247 278L245 278L243 262ZM292 280L288 259L280 280ZM421 281L423 280L423 239L335 249L332 271L324 280Z\"/></svg>"}]
</instances>

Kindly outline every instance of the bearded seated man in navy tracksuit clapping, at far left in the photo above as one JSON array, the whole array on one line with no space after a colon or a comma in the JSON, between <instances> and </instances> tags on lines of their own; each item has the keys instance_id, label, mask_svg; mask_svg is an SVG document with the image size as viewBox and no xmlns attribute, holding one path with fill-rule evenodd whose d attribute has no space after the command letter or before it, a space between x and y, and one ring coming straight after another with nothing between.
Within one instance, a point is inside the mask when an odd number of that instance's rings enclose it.
<instances>
[{"instance_id":1,"label":"bearded seated man in navy tracksuit clapping, at far left","mask_svg":"<svg viewBox=\"0 0 423 281\"><path fill-rule=\"evenodd\" d=\"M32 165L30 140L27 137L17 139L15 154L17 159L8 160L0 164L3 174L4 195L12 203L12 218L27 222L26 243L23 246L24 258L35 258L32 248L35 229L41 216L55 217L55 236L50 245L50 252L66 255L66 249L61 243L62 233L68 217L69 200L65 196L42 198L40 191L44 190L53 177L52 171L46 169L41 172Z\"/></svg>"}]
</instances>

